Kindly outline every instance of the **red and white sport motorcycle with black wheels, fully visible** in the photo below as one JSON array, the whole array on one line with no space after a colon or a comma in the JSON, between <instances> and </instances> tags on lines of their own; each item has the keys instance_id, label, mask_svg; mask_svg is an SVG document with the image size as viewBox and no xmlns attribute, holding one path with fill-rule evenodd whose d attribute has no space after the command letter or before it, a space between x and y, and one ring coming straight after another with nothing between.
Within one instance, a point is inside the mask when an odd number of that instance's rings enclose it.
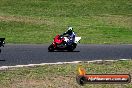
<instances>
[{"instance_id":1,"label":"red and white sport motorcycle with black wheels, fully visible","mask_svg":"<svg viewBox=\"0 0 132 88\"><path fill-rule=\"evenodd\" d=\"M53 52L54 50L73 51L76 48L77 43L80 42L81 37L75 37L75 41L70 45L67 44L68 40L69 40L68 36L56 35L53 40L53 43L48 47L48 51L49 52Z\"/></svg>"}]
</instances>

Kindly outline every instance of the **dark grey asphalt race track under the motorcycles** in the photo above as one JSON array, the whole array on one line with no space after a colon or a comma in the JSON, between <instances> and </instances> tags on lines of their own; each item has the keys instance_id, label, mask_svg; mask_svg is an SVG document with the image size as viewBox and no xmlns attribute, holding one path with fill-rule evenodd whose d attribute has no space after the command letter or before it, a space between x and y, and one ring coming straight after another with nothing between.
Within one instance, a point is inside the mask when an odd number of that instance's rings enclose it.
<instances>
[{"instance_id":1,"label":"dark grey asphalt race track under the motorcycles","mask_svg":"<svg viewBox=\"0 0 132 88\"><path fill-rule=\"evenodd\" d=\"M48 52L47 48L48 45L6 44L1 47L0 66L132 58L132 45L80 44L74 52Z\"/></svg>"}]
</instances>

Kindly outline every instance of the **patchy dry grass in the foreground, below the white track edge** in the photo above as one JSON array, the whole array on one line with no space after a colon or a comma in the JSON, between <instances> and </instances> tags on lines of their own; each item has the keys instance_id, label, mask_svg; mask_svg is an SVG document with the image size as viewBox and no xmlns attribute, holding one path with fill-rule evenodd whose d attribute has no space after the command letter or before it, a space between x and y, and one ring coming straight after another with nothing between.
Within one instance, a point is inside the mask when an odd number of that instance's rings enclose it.
<instances>
[{"instance_id":1,"label":"patchy dry grass in the foreground, below the white track edge","mask_svg":"<svg viewBox=\"0 0 132 88\"><path fill-rule=\"evenodd\" d=\"M2 88L131 88L129 84L86 84L76 83L78 67L86 69L87 74L130 74L132 61L78 63L62 65L44 65L1 70Z\"/></svg>"}]
</instances>

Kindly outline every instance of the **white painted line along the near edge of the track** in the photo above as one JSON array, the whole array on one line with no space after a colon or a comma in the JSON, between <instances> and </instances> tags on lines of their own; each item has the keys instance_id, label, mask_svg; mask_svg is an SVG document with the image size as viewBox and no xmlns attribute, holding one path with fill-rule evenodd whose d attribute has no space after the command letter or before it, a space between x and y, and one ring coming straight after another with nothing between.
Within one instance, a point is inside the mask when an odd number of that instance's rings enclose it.
<instances>
[{"instance_id":1,"label":"white painted line along the near edge of the track","mask_svg":"<svg viewBox=\"0 0 132 88\"><path fill-rule=\"evenodd\" d=\"M5 70L9 68L19 68L19 67L34 67L34 66L43 66L43 65L56 65L56 64L77 64L81 62L94 63L94 62L114 62L114 61L125 61L132 59L119 59L119 60L92 60L92 61L72 61L72 62L56 62L56 63L40 63L40 64L28 64L28 65L15 65L15 66L1 66L0 70Z\"/></svg>"}]
</instances>

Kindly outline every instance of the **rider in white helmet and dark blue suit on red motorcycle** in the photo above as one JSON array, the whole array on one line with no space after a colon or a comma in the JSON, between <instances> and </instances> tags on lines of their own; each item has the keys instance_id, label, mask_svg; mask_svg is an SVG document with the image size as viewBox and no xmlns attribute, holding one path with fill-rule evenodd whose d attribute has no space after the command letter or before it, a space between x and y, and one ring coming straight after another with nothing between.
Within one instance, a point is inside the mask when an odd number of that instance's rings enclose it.
<instances>
[{"instance_id":1,"label":"rider in white helmet and dark blue suit on red motorcycle","mask_svg":"<svg viewBox=\"0 0 132 88\"><path fill-rule=\"evenodd\" d=\"M76 34L74 33L73 31L73 28L72 27L68 27L67 31L63 33L63 36L64 35L68 35L68 41L67 41L67 44L70 45L72 44L74 41L75 41L75 36Z\"/></svg>"}]
</instances>

